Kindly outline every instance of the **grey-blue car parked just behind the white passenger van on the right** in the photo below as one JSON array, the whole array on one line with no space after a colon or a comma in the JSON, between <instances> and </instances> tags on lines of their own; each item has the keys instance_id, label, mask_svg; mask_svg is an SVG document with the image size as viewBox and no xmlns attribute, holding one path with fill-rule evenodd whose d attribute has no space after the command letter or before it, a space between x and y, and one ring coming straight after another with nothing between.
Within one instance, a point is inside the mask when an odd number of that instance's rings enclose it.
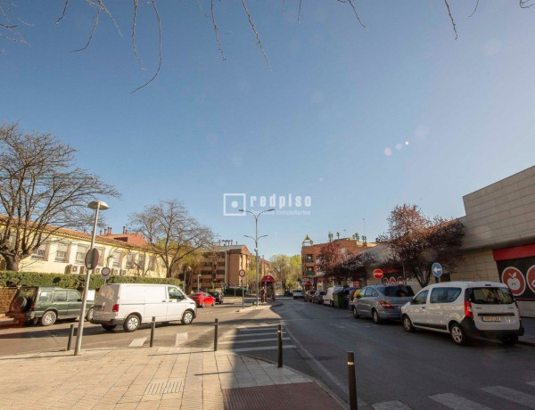
<instances>
[{"instance_id":1,"label":"grey-blue car parked just behind the white passenger van on the right","mask_svg":"<svg viewBox=\"0 0 535 410\"><path fill-rule=\"evenodd\" d=\"M400 319L401 307L415 295L405 284L374 284L363 288L353 299L353 317L369 316L380 324L387 319Z\"/></svg>"}]
</instances>

